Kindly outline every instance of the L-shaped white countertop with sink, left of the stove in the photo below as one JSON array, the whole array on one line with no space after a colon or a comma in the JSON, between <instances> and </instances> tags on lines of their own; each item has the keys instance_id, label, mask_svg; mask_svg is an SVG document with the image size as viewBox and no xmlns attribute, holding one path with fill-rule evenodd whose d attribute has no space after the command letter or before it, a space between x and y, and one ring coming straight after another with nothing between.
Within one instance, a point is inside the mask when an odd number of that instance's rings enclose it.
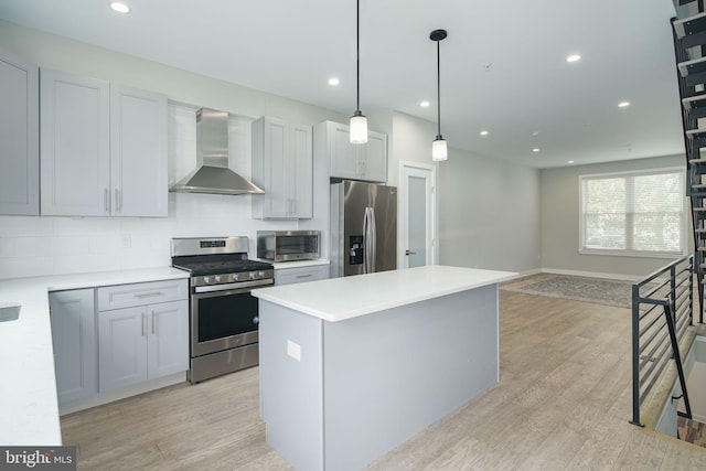
<instances>
[{"instance_id":1,"label":"L-shaped white countertop with sink, left of the stove","mask_svg":"<svg viewBox=\"0 0 706 471\"><path fill-rule=\"evenodd\" d=\"M0 280L0 307L21 306L0 322L0 446L62 443L49 291L188 278L171 267Z\"/></svg>"}]
</instances>

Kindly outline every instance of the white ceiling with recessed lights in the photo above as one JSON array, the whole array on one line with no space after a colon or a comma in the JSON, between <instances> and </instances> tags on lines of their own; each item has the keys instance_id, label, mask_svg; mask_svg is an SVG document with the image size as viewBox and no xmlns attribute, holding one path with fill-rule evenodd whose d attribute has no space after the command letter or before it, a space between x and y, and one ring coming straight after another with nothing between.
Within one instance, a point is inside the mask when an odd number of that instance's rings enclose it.
<instances>
[{"instance_id":1,"label":"white ceiling with recessed lights","mask_svg":"<svg viewBox=\"0 0 706 471\"><path fill-rule=\"evenodd\" d=\"M0 0L0 18L355 110L354 0L126 2L128 15L108 0ZM671 0L361 0L361 109L436 124L429 33L446 29L441 131L450 147L537 168L682 153L673 15ZM571 53L582 60L566 63ZM420 108L422 99L431 106ZM619 109L621 100L631 106Z\"/></svg>"}]
</instances>

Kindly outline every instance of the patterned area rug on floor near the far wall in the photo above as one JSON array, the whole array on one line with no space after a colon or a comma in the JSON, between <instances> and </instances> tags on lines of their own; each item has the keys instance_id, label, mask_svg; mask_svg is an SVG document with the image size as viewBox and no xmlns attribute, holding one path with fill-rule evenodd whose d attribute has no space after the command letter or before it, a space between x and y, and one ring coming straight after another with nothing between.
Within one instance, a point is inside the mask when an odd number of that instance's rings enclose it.
<instances>
[{"instance_id":1,"label":"patterned area rug on floor near the far wall","mask_svg":"<svg viewBox=\"0 0 706 471\"><path fill-rule=\"evenodd\" d=\"M539 281L534 281L538 278ZM502 285L501 289L554 298L574 299L598 304L629 308L632 302L630 281L603 280L598 278L549 276L528 277L524 280Z\"/></svg>"}]
</instances>

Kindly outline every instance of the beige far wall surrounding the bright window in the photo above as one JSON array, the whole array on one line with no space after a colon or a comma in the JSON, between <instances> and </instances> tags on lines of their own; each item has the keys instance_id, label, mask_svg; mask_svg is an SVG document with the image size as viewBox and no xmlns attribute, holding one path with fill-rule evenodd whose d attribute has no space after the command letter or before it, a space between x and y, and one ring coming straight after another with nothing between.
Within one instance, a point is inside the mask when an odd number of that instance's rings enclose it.
<instances>
[{"instance_id":1,"label":"beige far wall surrounding the bright window","mask_svg":"<svg viewBox=\"0 0 706 471\"><path fill-rule=\"evenodd\" d=\"M579 175L665 167L684 167L684 156L571 165L542 171L542 267L557 272L640 278L672 258L579 254ZM691 220L691 216L687 215ZM691 229L689 229L691 231ZM687 237L689 244L692 235Z\"/></svg>"}]
</instances>

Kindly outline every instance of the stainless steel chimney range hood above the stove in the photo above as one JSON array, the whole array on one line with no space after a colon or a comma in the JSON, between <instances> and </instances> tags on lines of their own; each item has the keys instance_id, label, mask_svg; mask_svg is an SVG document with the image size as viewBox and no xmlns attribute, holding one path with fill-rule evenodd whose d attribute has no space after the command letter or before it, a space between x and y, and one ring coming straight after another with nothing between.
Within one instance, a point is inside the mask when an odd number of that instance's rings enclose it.
<instances>
[{"instance_id":1,"label":"stainless steel chimney range hood above the stove","mask_svg":"<svg viewBox=\"0 0 706 471\"><path fill-rule=\"evenodd\" d=\"M181 193L263 194L260 188L228 169L228 114L196 111L196 169L169 189Z\"/></svg>"}]
</instances>

